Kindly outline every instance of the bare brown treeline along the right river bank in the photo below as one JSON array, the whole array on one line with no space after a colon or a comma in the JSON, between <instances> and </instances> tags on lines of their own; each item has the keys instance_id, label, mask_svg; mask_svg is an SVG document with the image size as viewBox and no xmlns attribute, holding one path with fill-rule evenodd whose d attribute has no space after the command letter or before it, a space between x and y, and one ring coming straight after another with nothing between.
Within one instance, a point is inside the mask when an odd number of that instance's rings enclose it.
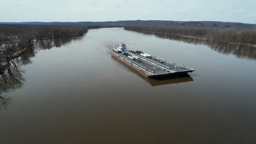
<instances>
[{"instance_id":1,"label":"bare brown treeline along the right river bank","mask_svg":"<svg viewBox=\"0 0 256 144\"><path fill-rule=\"evenodd\" d=\"M137 32L165 33L167 35L179 35L204 40L225 41L236 44L256 44L256 29L147 26L125 26L125 29Z\"/></svg>"}]
</instances>

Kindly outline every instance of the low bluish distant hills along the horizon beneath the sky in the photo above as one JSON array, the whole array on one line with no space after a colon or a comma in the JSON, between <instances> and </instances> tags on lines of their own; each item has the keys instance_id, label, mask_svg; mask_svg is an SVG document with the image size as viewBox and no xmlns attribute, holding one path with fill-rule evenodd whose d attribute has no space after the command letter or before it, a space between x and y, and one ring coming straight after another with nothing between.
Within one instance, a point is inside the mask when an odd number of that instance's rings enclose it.
<instances>
[{"instance_id":1,"label":"low bluish distant hills along the horizon beneath the sky","mask_svg":"<svg viewBox=\"0 0 256 144\"><path fill-rule=\"evenodd\" d=\"M256 24L220 21L104 21L104 22L0 22L0 24L19 25L100 25L100 26L189 26L219 28L256 28Z\"/></svg>"}]
</instances>

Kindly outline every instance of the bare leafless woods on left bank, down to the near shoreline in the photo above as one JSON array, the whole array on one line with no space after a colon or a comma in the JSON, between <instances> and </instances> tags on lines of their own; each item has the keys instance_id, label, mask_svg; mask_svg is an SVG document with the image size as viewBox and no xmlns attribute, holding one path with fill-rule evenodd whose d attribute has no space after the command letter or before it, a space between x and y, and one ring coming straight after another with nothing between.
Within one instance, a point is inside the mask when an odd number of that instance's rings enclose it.
<instances>
[{"instance_id":1,"label":"bare leafless woods on left bank, down to the near shoreline","mask_svg":"<svg viewBox=\"0 0 256 144\"><path fill-rule=\"evenodd\" d=\"M0 25L0 46L5 45L8 51L12 49L11 51L15 52L33 46L35 40L77 37L91 28L101 27L92 25ZM3 51L3 47L0 47L0 51Z\"/></svg>"}]
</instances>

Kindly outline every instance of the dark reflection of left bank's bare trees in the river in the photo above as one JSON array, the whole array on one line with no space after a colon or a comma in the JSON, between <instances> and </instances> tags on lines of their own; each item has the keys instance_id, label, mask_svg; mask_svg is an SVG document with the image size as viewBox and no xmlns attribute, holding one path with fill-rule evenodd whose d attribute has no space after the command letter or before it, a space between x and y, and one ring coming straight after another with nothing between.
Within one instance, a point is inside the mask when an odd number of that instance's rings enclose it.
<instances>
[{"instance_id":1,"label":"dark reflection of left bank's bare trees in the river","mask_svg":"<svg viewBox=\"0 0 256 144\"><path fill-rule=\"evenodd\" d=\"M62 39L44 39L34 40L32 46L26 47L18 57L7 59L4 52L0 54L0 62L7 65L0 65L0 107L6 106L10 103L10 97L4 96L5 93L14 91L21 88L26 81L23 74L25 70L22 69L22 65L28 65L32 63L32 58L36 56L37 50L46 50L53 47L61 47L64 44L70 43L72 40L80 38L62 38ZM18 44L19 45L19 44Z\"/></svg>"}]
</instances>

